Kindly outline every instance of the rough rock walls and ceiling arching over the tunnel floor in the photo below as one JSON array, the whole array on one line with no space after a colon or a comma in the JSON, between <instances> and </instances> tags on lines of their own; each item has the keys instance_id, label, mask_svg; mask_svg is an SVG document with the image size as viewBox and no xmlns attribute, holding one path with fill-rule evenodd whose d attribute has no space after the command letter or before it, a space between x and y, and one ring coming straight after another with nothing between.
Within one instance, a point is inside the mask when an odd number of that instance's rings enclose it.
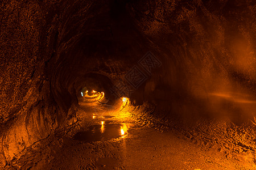
<instances>
[{"instance_id":1,"label":"rough rock walls and ceiling arching over the tunnel floor","mask_svg":"<svg viewBox=\"0 0 256 170\"><path fill-rule=\"evenodd\" d=\"M108 105L129 97L125 109L140 121L152 117L150 123L184 133L198 126L253 129L253 7L196 0L3 3L1 163L75 125L83 88L104 92ZM130 87L125 77L148 51L162 65L144 73L129 96L115 96L115 83ZM209 125L212 119L225 123ZM251 131L238 132L248 139L223 133L253 147Z\"/></svg>"}]
</instances>

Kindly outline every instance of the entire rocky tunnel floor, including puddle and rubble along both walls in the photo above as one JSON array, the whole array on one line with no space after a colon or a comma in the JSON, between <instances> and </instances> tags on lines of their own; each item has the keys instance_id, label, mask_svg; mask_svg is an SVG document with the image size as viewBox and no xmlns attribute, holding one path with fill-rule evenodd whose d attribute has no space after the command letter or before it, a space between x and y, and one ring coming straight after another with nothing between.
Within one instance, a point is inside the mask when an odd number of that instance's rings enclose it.
<instances>
[{"instance_id":1,"label":"entire rocky tunnel floor, including puddle and rubble along both walls","mask_svg":"<svg viewBox=\"0 0 256 170\"><path fill-rule=\"evenodd\" d=\"M81 104L77 116L62 135L35 143L5 168L256 169L251 148L164 127L150 116L145 119L142 108L114 112L97 102ZM120 134L123 125L125 135Z\"/></svg>"}]
</instances>

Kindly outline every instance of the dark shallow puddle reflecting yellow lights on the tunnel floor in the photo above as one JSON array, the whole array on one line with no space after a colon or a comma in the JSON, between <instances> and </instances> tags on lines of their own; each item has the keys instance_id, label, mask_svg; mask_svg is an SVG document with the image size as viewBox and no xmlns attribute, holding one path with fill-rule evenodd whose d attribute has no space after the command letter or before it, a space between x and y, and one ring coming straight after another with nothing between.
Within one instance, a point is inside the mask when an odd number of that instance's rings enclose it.
<instances>
[{"instance_id":1,"label":"dark shallow puddle reflecting yellow lights on the tunnel floor","mask_svg":"<svg viewBox=\"0 0 256 170\"><path fill-rule=\"evenodd\" d=\"M127 130L132 126L133 124L105 124L102 121L101 125L90 126L89 130L75 134L73 139L86 142L108 141L113 138L124 137Z\"/></svg>"}]
</instances>

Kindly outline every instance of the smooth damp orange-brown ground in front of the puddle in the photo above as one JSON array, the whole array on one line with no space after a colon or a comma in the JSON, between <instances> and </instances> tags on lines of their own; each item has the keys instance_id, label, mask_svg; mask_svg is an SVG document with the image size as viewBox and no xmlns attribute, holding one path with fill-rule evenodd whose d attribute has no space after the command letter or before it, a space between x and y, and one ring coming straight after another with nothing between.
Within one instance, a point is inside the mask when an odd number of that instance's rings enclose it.
<instances>
[{"instance_id":1,"label":"smooth damp orange-brown ground in front of the puddle","mask_svg":"<svg viewBox=\"0 0 256 170\"><path fill-rule=\"evenodd\" d=\"M104 142L65 140L44 169L253 169L173 133L131 128Z\"/></svg>"}]
</instances>

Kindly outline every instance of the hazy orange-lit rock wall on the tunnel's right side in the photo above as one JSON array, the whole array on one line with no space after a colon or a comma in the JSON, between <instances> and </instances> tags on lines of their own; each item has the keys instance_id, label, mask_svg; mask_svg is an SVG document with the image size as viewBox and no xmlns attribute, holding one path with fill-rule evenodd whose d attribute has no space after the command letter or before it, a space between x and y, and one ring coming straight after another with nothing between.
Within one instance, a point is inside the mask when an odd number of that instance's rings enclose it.
<instances>
[{"instance_id":1,"label":"hazy orange-lit rock wall on the tunnel's right side","mask_svg":"<svg viewBox=\"0 0 256 170\"><path fill-rule=\"evenodd\" d=\"M132 1L130 6L163 63L147 81L144 100L181 119L204 114L228 116L237 125L255 122L253 1Z\"/></svg>"}]
</instances>

